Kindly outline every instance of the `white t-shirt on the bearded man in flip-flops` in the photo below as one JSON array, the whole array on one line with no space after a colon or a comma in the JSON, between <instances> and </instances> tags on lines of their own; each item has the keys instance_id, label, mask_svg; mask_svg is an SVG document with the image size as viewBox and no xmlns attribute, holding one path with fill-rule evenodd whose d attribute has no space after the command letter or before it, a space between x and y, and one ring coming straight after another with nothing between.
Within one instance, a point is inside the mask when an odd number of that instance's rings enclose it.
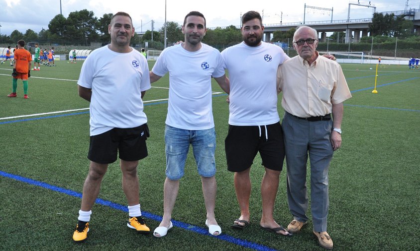
<instances>
[{"instance_id":1,"label":"white t-shirt on the bearded man in flip-flops","mask_svg":"<svg viewBox=\"0 0 420 251\"><path fill-rule=\"evenodd\" d=\"M230 79L229 125L271 125L277 112L277 68L289 59L282 48L244 42L221 52Z\"/></svg>"}]
</instances>

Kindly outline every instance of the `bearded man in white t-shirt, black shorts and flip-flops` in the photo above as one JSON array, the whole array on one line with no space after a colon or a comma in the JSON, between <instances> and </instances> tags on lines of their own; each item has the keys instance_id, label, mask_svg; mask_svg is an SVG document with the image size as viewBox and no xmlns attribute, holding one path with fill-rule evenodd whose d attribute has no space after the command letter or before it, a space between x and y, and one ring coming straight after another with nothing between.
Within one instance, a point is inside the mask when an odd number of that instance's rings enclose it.
<instances>
[{"instance_id":1,"label":"bearded man in white t-shirt, black shorts and flip-flops","mask_svg":"<svg viewBox=\"0 0 420 251\"><path fill-rule=\"evenodd\" d=\"M289 57L280 47L261 42L263 31L261 15L256 11L246 12L242 16L243 42L221 53L230 79L229 132L225 139L227 168L234 172L241 211L232 227L243 229L249 224L249 173L259 152L265 169L260 226L276 234L290 235L273 217L285 156L277 112L276 72Z\"/></svg>"}]
</instances>

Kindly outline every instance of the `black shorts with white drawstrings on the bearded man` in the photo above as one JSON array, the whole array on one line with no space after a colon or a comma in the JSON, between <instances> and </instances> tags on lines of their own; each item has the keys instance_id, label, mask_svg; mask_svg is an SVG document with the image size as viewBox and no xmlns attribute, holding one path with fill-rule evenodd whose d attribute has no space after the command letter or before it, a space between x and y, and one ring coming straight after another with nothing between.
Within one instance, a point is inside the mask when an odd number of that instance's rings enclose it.
<instances>
[{"instance_id":1,"label":"black shorts with white drawstrings on the bearded man","mask_svg":"<svg viewBox=\"0 0 420 251\"><path fill-rule=\"evenodd\" d=\"M271 170L283 170L285 149L280 123L265 126L229 125L224 149L227 170L230 172L242 172L248 169L257 152L262 159L261 165Z\"/></svg>"}]
</instances>

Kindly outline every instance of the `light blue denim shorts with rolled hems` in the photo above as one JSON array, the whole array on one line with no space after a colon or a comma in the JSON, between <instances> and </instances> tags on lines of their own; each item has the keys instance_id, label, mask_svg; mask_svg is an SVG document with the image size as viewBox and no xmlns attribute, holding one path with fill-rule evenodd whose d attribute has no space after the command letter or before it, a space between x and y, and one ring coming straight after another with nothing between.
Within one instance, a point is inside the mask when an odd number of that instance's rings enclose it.
<instances>
[{"instance_id":1,"label":"light blue denim shorts with rolled hems","mask_svg":"<svg viewBox=\"0 0 420 251\"><path fill-rule=\"evenodd\" d=\"M184 176L185 161L190 144L200 176L213 177L216 174L214 152L216 132L214 127L206 130L185 130L166 125L166 177L176 181Z\"/></svg>"}]
</instances>

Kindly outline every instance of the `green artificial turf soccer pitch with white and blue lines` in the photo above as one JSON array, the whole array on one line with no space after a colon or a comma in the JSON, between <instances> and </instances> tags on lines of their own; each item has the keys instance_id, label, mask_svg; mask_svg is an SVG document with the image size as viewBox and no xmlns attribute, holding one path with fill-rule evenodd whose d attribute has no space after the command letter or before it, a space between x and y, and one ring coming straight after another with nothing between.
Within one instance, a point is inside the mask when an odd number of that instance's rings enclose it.
<instances>
[{"instance_id":1,"label":"green artificial turf soccer pitch with white and blue lines","mask_svg":"<svg viewBox=\"0 0 420 251\"><path fill-rule=\"evenodd\" d=\"M176 224L167 236L138 235L126 227L127 202L116 162L109 166L101 200L92 210L88 240L74 243L89 168L89 103L77 93L82 62L56 64L31 71L27 100L21 80L18 97L7 97L11 67L0 66L0 250L323 250L312 234L311 221L291 238L260 229L264 170L259 155L251 168L251 224L243 231L230 228L240 212L224 154L227 95L214 80L215 213L222 235L207 234L201 181L190 153L172 215ZM343 143L329 169L328 233L334 250L420 250L420 69L381 65L378 93L373 94L375 71L369 68L376 65L342 64L342 68L353 97L344 103ZM168 87L167 74L144 97L151 136L149 156L140 161L138 176L141 209L152 231L163 214ZM278 107L282 118L281 94ZM292 220L285 172L275 219L283 226Z\"/></svg>"}]
</instances>

